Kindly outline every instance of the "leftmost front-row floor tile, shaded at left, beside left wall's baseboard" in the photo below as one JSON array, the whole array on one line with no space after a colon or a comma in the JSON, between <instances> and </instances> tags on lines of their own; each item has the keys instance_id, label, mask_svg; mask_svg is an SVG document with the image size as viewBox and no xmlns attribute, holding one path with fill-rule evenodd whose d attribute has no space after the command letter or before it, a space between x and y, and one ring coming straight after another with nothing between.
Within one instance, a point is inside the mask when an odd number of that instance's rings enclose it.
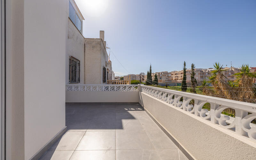
<instances>
[{"instance_id":1,"label":"leftmost front-row floor tile, shaded at left, beside left wall's baseboard","mask_svg":"<svg viewBox=\"0 0 256 160\"><path fill-rule=\"evenodd\" d=\"M48 151L39 160L69 160L74 151Z\"/></svg>"}]
</instances>

